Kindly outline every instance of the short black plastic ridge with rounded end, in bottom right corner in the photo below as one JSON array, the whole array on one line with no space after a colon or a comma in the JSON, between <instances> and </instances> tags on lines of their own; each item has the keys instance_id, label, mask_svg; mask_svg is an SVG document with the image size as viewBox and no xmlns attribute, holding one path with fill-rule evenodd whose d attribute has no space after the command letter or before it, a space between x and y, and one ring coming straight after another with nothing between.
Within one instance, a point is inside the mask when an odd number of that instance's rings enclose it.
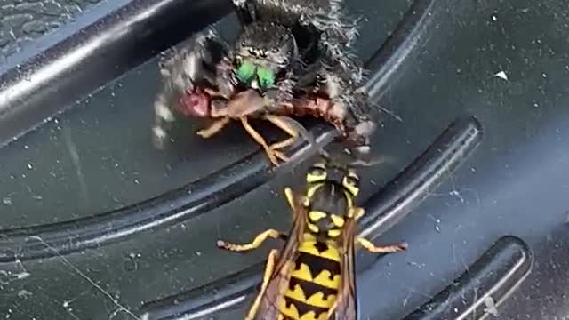
<instances>
[{"instance_id":1,"label":"short black plastic ridge with rounded end, in bottom right corner","mask_svg":"<svg viewBox=\"0 0 569 320\"><path fill-rule=\"evenodd\" d=\"M479 319L523 282L533 265L533 254L516 236L502 236L458 279L404 320ZM492 310L493 312L497 310Z\"/></svg>"}]
</instances>

